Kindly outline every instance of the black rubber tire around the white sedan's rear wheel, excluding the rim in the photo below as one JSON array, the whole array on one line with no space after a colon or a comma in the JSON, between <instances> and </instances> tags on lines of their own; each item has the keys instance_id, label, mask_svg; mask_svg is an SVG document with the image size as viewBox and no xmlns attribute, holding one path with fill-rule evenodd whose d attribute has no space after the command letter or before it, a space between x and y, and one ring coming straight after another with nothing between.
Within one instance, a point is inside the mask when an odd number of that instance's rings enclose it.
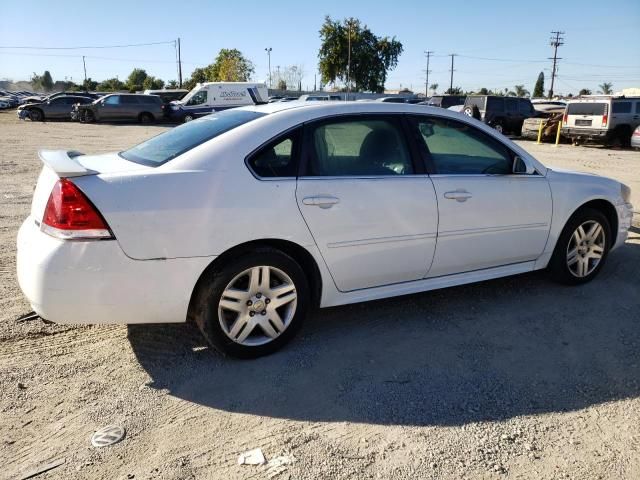
<instances>
[{"instance_id":1,"label":"black rubber tire around the white sedan's rear wheel, excluding the rim","mask_svg":"<svg viewBox=\"0 0 640 480\"><path fill-rule=\"evenodd\" d=\"M198 285L193 316L205 339L223 354L238 358L257 358L275 352L288 343L298 332L309 308L309 284L304 271L289 255L272 248L259 248L234 256L216 269L205 272ZM249 347L231 340L218 320L218 303L224 289L240 272L259 265L278 268L285 272L296 287L296 313L287 329L265 345Z\"/></svg>"}]
</instances>

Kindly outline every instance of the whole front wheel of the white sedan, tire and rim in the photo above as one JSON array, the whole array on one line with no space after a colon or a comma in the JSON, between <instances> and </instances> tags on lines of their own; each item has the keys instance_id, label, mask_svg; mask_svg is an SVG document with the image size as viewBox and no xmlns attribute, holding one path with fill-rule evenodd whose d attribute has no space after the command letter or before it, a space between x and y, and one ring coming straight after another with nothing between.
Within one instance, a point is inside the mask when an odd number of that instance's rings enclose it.
<instances>
[{"instance_id":1,"label":"whole front wheel of the white sedan, tire and rim","mask_svg":"<svg viewBox=\"0 0 640 480\"><path fill-rule=\"evenodd\" d=\"M599 210L584 208L567 222L549 263L554 280L580 285L593 280L611 249L611 226Z\"/></svg>"}]
</instances>

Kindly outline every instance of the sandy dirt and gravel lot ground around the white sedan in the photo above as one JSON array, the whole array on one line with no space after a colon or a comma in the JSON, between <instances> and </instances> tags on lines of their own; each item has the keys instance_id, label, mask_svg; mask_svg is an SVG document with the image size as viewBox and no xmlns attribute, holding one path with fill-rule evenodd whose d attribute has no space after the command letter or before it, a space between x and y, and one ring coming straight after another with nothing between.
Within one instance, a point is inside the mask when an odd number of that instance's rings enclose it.
<instances>
[{"instance_id":1,"label":"sandy dirt and gravel lot ground around the white sedan","mask_svg":"<svg viewBox=\"0 0 640 480\"><path fill-rule=\"evenodd\" d=\"M164 128L0 113L0 478L56 460L38 478L640 478L638 227L588 285L538 272L322 310L257 361L221 357L189 325L17 323L36 151L106 152ZM640 207L640 153L521 144L624 181ZM92 447L109 424L125 439ZM270 463L238 465L254 448Z\"/></svg>"}]
</instances>

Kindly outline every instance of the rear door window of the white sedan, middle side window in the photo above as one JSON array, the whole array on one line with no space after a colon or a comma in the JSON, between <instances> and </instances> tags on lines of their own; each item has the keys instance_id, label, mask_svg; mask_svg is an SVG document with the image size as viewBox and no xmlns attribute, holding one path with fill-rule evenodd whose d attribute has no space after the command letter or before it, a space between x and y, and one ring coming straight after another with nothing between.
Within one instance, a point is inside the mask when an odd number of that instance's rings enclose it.
<instances>
[{"instance_id":1,"label":"rear door window of the white sedan, middle side window","mask_svg":"<svg viewBox=\"0 0 640 480\"><path fill-rule=\"evenodd\" d=\"M312 128L307 176L368 177L414 173L399 122L387 117L333 120Z\"/></svg>"}]
</instances>

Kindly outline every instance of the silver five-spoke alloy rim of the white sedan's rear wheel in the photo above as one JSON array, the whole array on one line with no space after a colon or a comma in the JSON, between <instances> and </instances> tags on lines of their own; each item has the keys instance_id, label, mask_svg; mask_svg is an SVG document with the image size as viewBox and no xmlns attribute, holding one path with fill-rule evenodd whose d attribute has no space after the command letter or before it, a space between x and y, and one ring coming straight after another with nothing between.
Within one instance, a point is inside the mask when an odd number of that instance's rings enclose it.
<instances>
[{"instance_id":1,"label":"silver five-spoke alloy rim of the white sedan's rear wheel","mask_svg":"<svg viewBox=\"0 0 640 480\"><path fill-rule=\"evenodd\" d=\"M269 266L248 268L236 275L222 292L218 320L235 343L258 346L278 338L296 313L293 280Z\"/></svg>"}]
</instances>

